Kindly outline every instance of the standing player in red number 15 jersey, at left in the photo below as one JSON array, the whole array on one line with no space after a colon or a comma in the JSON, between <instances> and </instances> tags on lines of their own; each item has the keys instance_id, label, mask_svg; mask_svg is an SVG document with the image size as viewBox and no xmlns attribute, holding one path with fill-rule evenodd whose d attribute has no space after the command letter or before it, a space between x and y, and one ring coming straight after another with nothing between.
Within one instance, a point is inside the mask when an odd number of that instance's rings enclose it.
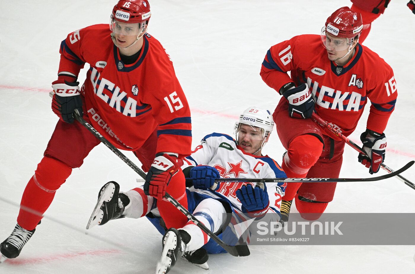
<instances>
[{"instance_id":1,"label":"standing player in red number 15 jersey, at left","mask_svg":"<svg viewBox=\"0 0 415 274\"><path fill-rule=\"evenodd\" d=\"M147 0L120 0L110 27L85 27L62 41L58 79L52 83L52 109L60 119L24 190L17 225L0 245L1 261L20 254L56 190L100 143L74 121L75 111L117 148L139 158L148 171L144 192L159 200L166 226L187 223L162 197L168 191L187 206L178 159L190 155L190 110L168 54L146 33L150 16ZM77 78L85 63L90 67L80 88Z\"/></svg>"}]
</instances>

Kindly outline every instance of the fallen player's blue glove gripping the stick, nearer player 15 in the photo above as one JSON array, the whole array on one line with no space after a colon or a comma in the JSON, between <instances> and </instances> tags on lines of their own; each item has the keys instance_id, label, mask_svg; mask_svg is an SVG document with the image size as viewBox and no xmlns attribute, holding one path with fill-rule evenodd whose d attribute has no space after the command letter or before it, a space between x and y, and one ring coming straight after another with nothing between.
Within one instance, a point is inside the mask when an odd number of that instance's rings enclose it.
<instances>
[{"instance_id":1,"label":"fallen player's blue glove gripping the stick, nearer player 15","mask_svg":"<svg viewBox=\"0 0 415 274\"><path fill-rule=\"evenodd\" d=\"M217 190L219 184L215 183L215 179L219 178L219 171L210 165L198 165L190 170L190 178L193 179L193 187L195 189L211 189Z\"/></svg>"}]
</instances>

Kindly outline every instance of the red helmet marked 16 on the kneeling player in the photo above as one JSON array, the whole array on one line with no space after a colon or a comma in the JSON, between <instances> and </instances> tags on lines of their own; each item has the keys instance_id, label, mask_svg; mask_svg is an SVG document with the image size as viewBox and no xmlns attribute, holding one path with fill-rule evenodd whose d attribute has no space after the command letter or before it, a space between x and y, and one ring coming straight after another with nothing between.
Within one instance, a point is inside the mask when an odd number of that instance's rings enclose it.
<instances>
[{"instance_id":1,"label":"red helmet marked 16 on the kneeling player","mask_svg":"<svg viewBox=\"0 0 415 274\"><path fill-rule=\"evenodd\" d=\"M360 36L363 29L362 17L359 12L349 7L341 7L326 20L325 31L336 37L354 38Z\"/></svg>"}]
</instances>

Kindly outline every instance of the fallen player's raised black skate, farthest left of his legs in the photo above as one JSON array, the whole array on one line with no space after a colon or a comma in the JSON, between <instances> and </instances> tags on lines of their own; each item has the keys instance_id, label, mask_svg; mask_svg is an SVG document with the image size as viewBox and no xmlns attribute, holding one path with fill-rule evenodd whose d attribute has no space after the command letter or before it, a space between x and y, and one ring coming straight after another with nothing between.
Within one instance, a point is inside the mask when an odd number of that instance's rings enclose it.
<instances>
[{"instance_id":1,"label":"fallen player's raised black skate, farthest left of his legs","mask_svg":"<svg viewBox=\"0 0 415 274\"><path fill-rule=\"evenodd\" d=\"M129 198L120 192L120 185L116 182L107 182L98 192L98 201L89 218L86 229L107 223L110 220L124 218L122 213L129 204Z\"/></svg>"}]
</instances>

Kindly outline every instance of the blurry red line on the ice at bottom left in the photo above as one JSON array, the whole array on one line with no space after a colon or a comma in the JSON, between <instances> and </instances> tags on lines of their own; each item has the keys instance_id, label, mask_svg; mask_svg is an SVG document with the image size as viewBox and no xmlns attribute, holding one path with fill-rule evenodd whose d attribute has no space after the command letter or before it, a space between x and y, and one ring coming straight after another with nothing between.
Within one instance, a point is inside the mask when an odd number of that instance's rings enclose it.
<instances>
[{"instance_id":1,"label":"blurry red line on the ice at bottom left","mask_svg":"<svg viewBox=\"0 0 415 274\"><path fill-rule=\"evenodd\" d=\"M76 253L67 253L67 254L59 254L59 255L51 255L45 257L38 257L38 258L27 258L27 259L7 259L4 263L13 264L13 265L24 265L24 264L42 264L51 261L57 261L60 259L72 259L81 256L87 255L107 255L109 253L120 253L120 250L91 250L91 251L82 251Z\"/></svg>"}]
</instances>

